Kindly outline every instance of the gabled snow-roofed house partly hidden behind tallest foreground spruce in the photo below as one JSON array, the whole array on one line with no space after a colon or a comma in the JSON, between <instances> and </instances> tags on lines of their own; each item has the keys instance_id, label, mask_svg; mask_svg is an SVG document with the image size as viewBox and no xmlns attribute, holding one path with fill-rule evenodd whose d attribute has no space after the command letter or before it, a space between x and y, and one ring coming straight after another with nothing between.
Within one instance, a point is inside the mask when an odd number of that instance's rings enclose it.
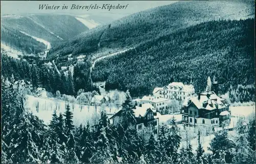
<instances>
[{"instance_id":1,"label":"gabled snow-roofed house partly hidden behind tallest foreground spruce","mask_svg":"<svg viewBox=\"0 0 256 164\"><path fill-rule=\"evenodd\" d=\"M132 109L136 119L135 129L141 130L143 127L150 127L155 134L159 134L159 114L156 112L156 109L150 104L142 104L140 106L135 106L135 109ZM110 119L113 124L120 124L122 122L122 109L115 113ZM158 116L157 116L158 114Z\"/></svg>"}]
</instances>

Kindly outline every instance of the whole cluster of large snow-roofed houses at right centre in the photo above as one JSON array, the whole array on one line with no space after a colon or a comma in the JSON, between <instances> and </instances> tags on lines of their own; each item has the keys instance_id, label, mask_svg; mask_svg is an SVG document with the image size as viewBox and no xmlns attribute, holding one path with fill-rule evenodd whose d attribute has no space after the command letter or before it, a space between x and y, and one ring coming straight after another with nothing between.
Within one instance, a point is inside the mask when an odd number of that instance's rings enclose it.
<instances>
[{"instance_id":1,"label":"whole cluster of large snow-roofed houses at right centre","mask_svg":"<svg viewBox=\"0 0 256 164\"><path fill-rule=\"evenodd\" d=\"M157 110L168 107L172 99L183 102L180 123L186 126L219 127L230 124L230 112L227 102L218 97L218 82L212 83L213 91L195 93L195 88L191 84L184 85L181 82L173 82L164 87L157 87L153 91L153 96L144 96L142 99L135 99L136 108L133 109L137 124L135 128L142 127L154 129L159 133L159 118L161 115ZM122 121L122 110L119 110L111 118L114 124ZM172 119L172 118L169 118Z\"/></svg>"}]
</instances>

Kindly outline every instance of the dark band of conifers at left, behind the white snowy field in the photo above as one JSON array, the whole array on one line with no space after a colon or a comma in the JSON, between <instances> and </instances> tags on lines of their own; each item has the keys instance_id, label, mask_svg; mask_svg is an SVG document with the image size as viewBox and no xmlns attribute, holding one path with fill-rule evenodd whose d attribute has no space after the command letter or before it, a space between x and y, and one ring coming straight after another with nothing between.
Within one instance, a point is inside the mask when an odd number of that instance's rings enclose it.
<instances>
[{"instance_id":1,"label":"dark band of conifers at left, behind the white snowy field","mask_svg":"<svg viewBox=\"0 0 256 164\"><path fill-rule=\"evenodd\" d=\"M11 78L13 75L15 81L30 81L35 89L42 87L52 93L59 90L61 94L71 96L76 96L79 89L84 89L84 91L98 90L93 87L89 80L90 72L87 67L90 62L76 64L72 76L70 71L66 75L63 71L59 74L54 66L41 63L29 64L25 60L17 60L6 54L1 54L1 59L3 77Z\"/></svg>"}]
</instances>

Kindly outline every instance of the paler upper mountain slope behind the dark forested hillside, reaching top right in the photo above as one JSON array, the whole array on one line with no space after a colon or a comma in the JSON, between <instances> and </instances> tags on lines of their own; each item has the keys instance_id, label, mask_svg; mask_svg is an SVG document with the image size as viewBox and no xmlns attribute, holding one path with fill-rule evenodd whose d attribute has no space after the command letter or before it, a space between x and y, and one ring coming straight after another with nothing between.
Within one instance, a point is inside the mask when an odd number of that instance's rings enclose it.
<instances>
[{"instance_id":1,"label":"paler upper mountain slope behind the dark forested hillside, reaching top right","mask_svg":"<svg viewBox=\"0 0 256 164\"><path fill-rule=\"evenodd\" d=\"M249 17L254 17L253 1L181 1L96 27L53 48L49 57L135 46L201 22Z\"/></svg>"}]
</instances>

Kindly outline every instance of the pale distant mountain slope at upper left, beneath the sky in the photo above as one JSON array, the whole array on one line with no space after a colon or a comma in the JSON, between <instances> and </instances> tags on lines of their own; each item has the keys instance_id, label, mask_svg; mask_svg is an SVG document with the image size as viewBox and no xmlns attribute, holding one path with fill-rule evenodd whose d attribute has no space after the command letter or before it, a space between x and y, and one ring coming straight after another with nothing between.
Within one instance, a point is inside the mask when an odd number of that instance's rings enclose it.
<instances>
[{"instance_id":1,"label":"pale distant mountain slope at upper left, beneath the sky","mask_svg":"<svg viewBox=\"0 0 256 164\"><path fill-rule=\"evenodd\" d=\"M12 38L11 31L15 30L16 38ZM40 38L50 42L52 45L60 41L65 41L73 38L88 28L84 26L80 21L71 15L7 15L1 16L1 42L5 42L9 46L12 46L20 51L23 51L25 46L20 45L18 42L23 42L24 33L33 36L34 38ZM9 31L9 32L7 32ZM22 33L20 33L23 32ZM15 39L16 42L12 42ZM28 43L31 48L31 44ZM41 43L33 43L34 46L39 47ZM33 48L31 48L33 49ZM43 51L44 49L40 49ZM27 51L30 53L30 51Z\"/></svg>"}]
</instances>

